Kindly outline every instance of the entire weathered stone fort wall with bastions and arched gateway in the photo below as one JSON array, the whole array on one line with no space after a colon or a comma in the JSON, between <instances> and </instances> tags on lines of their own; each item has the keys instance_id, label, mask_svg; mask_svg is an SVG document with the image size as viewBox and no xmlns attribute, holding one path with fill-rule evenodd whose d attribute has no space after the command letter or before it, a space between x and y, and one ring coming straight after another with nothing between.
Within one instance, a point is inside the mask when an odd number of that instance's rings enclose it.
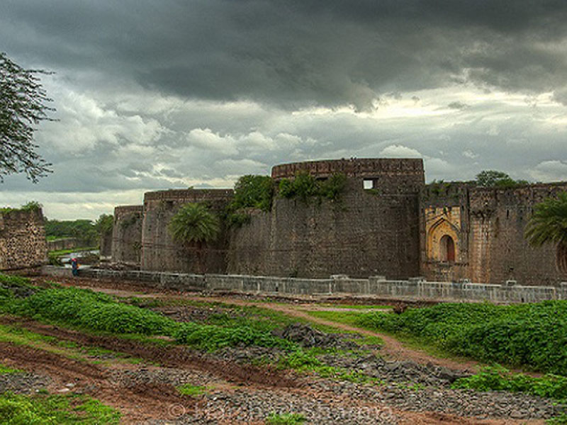
<instances>
[{"instance_id":1,"label":"entire weathered stone fort wall with bastions and arched gateway","mask_svg":"<svg viewBox=\"0 0 567 425\"><path fill-rule=\"evenodd\" d=\"M328 278L388 276L558 285L567 276L555 247L533 248L524 227L535 204L567 183L479 188L467 183L425 185L421 159L340 159L274 166L272 179L307 171L323 180L347 176L341 200L274 196L271 210L249 209L250 222L223 227L206 247L208 273ZM167 224L180 205L207 203L222 215L231 190L159 191L143 206L115 211L113 260L142 270L196 272L195 249L172 241ZM118 223L132 223L129 233ZM120 230L122 229L122 230ZM139 251L133 246L141 246Z\"/></svg>"}]
</instances>

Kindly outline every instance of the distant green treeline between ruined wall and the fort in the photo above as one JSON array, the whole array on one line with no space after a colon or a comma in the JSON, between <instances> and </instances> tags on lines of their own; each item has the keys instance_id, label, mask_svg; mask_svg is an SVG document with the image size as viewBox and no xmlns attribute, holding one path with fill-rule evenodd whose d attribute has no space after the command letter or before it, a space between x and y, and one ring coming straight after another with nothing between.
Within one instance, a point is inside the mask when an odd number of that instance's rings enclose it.
<instances>
[{"instance_id":1,"label":"distant green treeline between ruined wall and the fort","mask_svg":"<svg viewBox=\"0 0 567 425\"><path fill-rule=\"evenodd\" d=\"M48 239L74 237L82 246L98 246L102 233L112 232L113 216L102 214L93 220L49 220L45 219L45 236Z\"/></svg>"}]
</instances>

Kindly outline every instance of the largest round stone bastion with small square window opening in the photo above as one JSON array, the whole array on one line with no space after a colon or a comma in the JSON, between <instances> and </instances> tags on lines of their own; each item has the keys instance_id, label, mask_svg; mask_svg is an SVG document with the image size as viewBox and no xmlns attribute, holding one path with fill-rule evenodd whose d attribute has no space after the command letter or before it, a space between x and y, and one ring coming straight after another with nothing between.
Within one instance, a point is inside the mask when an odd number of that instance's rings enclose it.
<instances>
[{"instance_id":1,"label":"largest round stone bastion with small square window opening","mask_svg":"<svg viewBox=\"0 0 567 425\"><path fill-rule=\"evenodd\" d=\"M231 235L230 273L305 278L419 276L421 159L338 159L274 166L282 179L344 174L338 200L283 198ZM277 189L276 189L277 192Z\"/></svg>"}]
</instances>

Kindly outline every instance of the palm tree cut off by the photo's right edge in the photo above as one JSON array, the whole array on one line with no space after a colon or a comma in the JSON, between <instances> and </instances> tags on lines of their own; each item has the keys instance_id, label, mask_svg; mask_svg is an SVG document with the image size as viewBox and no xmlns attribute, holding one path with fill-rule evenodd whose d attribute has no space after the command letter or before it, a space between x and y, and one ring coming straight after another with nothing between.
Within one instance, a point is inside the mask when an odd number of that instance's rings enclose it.
<instances>
[{"instance_id":1,"label":"palm tree cut off by the photo's right edge","mask_svg":"<svg viewBox=\"0 0 567 425\"><path fill-rule=\"evenodd\" d=\"M567 272L567 193L559 193L557 198L547 198L534 206L524 232L529 244L541 246L556 244L556 265L560 271Z\"/></svg>"}]
</instances>

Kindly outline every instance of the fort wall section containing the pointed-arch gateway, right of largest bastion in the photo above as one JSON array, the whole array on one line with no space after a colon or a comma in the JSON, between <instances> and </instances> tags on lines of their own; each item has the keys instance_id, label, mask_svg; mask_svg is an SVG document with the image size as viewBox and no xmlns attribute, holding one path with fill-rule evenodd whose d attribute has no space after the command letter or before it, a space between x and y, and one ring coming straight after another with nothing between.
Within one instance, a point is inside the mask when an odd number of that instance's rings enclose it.
<instances>
[{"instance_id":1,"label":"fort wall section containing the pointed-arch gateway, right of largest bastion","mask_svg":"<svg viewBox=\"0 0 567 425\"><path fill-rule=\"evenodd\" d=\"M421 269L428 280L460 280L522 285L558 285L567 276L556 267L556 249L533 247L524 228L534 205L567 191L567 183L517 188L479 188L449 184L420 200ZM443 256L442 237L455 242L455 259Z\"/></svg>"}]
</instances>

